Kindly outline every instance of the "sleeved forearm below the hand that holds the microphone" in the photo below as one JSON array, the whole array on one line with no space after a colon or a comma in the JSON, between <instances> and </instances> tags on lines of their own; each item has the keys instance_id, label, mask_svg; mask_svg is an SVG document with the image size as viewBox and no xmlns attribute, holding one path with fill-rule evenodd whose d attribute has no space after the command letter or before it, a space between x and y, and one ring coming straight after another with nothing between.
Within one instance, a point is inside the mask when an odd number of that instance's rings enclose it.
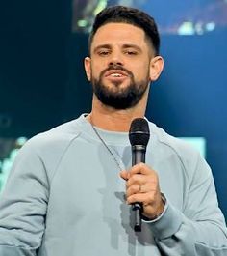
<instances>
[{"instance_id":1,"label":"sleeved forearm below the hand that holds the microphone","mask_svg":"<svg viewBox=\"0 0 227 256\"><path fill-rule=\"evenodd\" d=\"M227 255L227 234L221 228L224 223L189 220L167 203L164 214L149 225L164 255Z\"/></svg>"}]
</instances>

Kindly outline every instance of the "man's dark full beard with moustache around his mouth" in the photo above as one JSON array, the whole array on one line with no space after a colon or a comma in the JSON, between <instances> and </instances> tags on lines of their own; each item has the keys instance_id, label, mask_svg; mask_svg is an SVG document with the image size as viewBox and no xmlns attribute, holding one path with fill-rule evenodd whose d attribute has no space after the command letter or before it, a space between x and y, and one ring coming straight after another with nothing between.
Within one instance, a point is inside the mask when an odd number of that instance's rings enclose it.
<instances>
[{"instance_id":1,"label":"man's dark full beard with moustache around his mouth","mask_svg":"<svg viewBox=\"0 0 227 256\"><path fill-rule=\"evenodd\" d=\"M128 73L130 77L130 85L126 88L119 89L117 92L109 89L103 84L102 77L106 71L121 70ZM131 71L127 71L122 67L109 67L105 71L100 73L99 79L95 79L91 75L91 83L93 86L93 92L103 104L113 107L114 109L127 109L131 108L141 100L143 94L147 90L149 84L148 74L146 79L139 82L135 82L134 75ZM115 87L120 85L119 82L115 83Z\"/></svg>"}]
</instances>

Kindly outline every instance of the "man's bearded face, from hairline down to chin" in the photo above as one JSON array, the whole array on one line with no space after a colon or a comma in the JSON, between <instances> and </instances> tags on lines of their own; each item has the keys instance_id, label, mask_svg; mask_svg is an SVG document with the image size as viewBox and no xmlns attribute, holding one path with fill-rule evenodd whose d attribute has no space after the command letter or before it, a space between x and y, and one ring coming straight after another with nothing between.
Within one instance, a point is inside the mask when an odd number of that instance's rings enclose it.
<instances>
[{"instance_id":1,"label":"man's bearded face, from hairline down to chin","mask_svg":"<svg viewBox=\"0 0 227 256\"><path fill-rule=\"evenodd\" d=\"M94 35L86 65L96 97L115 109L135 106L150 82L151 50L142 29L108 23Z\"/></svg>"}]
</instances>

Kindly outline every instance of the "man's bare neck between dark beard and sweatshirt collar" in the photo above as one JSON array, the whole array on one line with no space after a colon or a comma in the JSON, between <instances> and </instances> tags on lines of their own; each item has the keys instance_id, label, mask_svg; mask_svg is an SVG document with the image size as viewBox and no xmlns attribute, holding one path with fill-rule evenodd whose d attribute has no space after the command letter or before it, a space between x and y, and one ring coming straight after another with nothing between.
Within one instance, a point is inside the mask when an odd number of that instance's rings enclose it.
<instances>
[{"instance_id":1,"label":"man's bare neck between dark beard and sweatshirt collar","mask_svg":"<svg viewBox=\"0 0 227 256\"><path fill-rule=\"evenodd\" d=\"M145 105L143 102L130 109L117 110L103 105L93 97L92 111L88 115L88 121L95 127L111 131L129 131L130 125L135 118L143 118Z\"/></svg>"}]
</instances>

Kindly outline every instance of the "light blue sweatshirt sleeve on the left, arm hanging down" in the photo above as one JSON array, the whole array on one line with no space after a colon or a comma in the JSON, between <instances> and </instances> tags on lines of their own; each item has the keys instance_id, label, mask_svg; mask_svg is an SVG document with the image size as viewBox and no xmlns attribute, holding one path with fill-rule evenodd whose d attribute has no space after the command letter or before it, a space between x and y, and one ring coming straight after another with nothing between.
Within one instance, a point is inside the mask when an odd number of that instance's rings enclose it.
<instances>
[{"instance_id":1,"label":"light blue sweatshirt sleeve on the left, arm hanging down","mask_svg":"<svg viewBox=\"0 0 227 256\"><path fill-rule=\"evenodd\" d=\"M35 256L44 232L49 184L36 147L20 150L0 198L0 255Z\"/></svg>"}]
</instances>

